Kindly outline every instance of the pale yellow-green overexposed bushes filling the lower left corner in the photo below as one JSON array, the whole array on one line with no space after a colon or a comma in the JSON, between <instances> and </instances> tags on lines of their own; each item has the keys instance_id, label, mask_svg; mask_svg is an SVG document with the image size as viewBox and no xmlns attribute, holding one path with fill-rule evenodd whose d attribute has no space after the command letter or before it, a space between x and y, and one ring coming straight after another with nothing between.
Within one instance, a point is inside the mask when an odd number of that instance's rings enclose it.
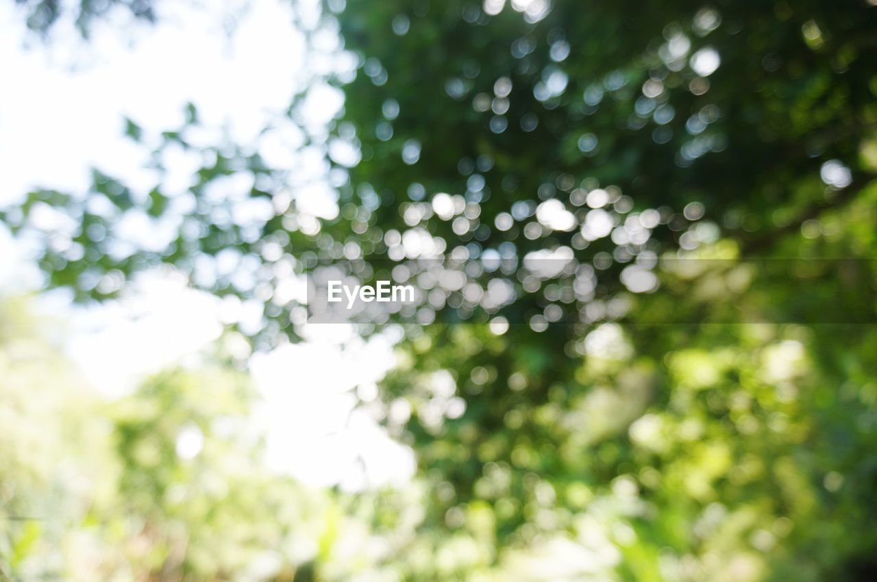
<instances>
[{"instance_id":1,"label":"pale yellow-green overexposed bushes filling the lower left corner","mask_svg":"<svg viewBox=\"0 0 877 582\"><path fill-rule=\"evenodd\" d=\"M267 471L246 375L161 373L108 403L28 311L4 301L0 316L0 578L310 579L360 536L367 501ZM322 579L361 564L333 567Z\"/></svg>"}]
</instances>

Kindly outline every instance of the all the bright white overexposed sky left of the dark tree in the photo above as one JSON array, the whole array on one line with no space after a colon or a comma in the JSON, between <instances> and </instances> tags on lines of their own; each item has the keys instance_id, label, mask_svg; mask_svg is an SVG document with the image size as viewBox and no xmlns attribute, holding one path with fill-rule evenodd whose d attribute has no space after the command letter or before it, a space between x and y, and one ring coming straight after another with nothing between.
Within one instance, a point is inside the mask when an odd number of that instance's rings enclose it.
<instances>
[{"instance_id":1,"label":"all the bright white overexposed sky left of the dark tree","mask_svg":"<svg viewBox=\"0 0 877 582\"><path fill-rule=\"evenodd\" d=\"M140 167L144 150L122 138L123 116L146 131L163 131L181 124L182 106L191 101L205 124L224 126L245 144L282 118L303 83L303 38L288 2L252 0L240 11L245 4L210 4L223 8L208 13L165 3L173 8L160 14L160 25L133 40L128 29L103 26L84 46L61 27L53 46L30 39L27 49L17 7L0 5L0 203L37 186L82 190L90 166L135 187L149 184L153 177ZM229 33L223 23L232 15L240 18ZM323 97L340 105L337 95ZM311 116L321 117L327 117L325 107ZM281 133L267 154L290 157L295 141ZM191 161L166 160L177 186L188 182ZM331 200L310 194L317 206ZM0 288L32 285L32 266L0 234ZM73 309L55 297L42 305L70 322L70 357L111 397L130 391L145 374L196 358L222 329L221 302L187 288L173 273L142 277L116 304ZM410 450L366 413L353 411L354 391L371 394L393 365L392 341L366 343L341 326L310 330L309 337L251 360L265 399L258 414L267 427L270 465L315 485L349 489L408 479Z\"/></svg>"}]
</instances>

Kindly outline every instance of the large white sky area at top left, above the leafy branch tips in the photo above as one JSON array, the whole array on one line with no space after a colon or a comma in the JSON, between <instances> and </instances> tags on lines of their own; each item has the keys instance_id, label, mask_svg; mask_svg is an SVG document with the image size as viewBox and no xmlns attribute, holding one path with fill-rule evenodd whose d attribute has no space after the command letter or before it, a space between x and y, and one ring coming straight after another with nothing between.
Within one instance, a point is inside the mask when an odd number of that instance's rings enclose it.
<instances>
[{"instance_id":1,"label":"large white sky area at top left, above the leafy branch tips","mask_svg":"<svg viewBox=\"0 0 877 582\"><path fill-rule=\"evenodd\" d=\"M146 149L120 138L123 115L150 131L173 129L191 101L205 124L248 143L289 105L304 59L289 3L253 0L231 37L223 11L173 7L133 42L97 26L75 56L91 62L74 69L64 53L77 42L72 34L24 50L21 12L0 6L0 202L38 185L82 189L89 165L149 183Z\"/></svg>"}]
</instances>

